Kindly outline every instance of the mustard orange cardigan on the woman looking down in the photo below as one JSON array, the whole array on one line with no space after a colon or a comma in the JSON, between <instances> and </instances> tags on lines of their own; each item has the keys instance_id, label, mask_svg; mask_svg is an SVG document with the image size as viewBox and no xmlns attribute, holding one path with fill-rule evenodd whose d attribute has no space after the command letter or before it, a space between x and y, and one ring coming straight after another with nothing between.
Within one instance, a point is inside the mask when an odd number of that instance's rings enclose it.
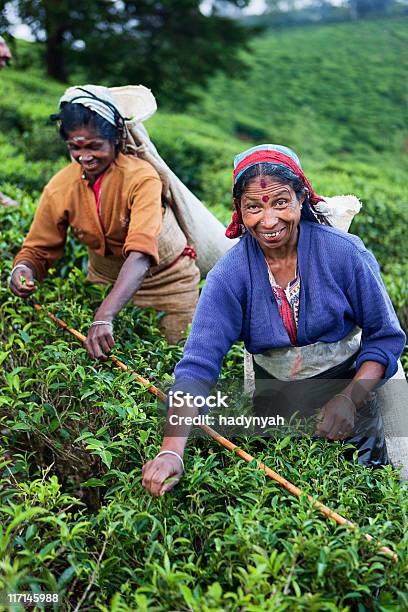
<instances>
[{"instance_id":1,"label":"mustard orange cardigan on the woman looking down","mask_svg":"<svg viewBox=\"0 0 408 612\"><path fill-rule=\"evenodd\" d=\"M61 257L68 227L97 255L127 256L131 251L159 263L162 184L148 162L119 153L106 170L101 187L101 218L82 168L72 162L45 187L23 247L14 260L30 262L42 280Z\"/></svg>"}]
</instances>

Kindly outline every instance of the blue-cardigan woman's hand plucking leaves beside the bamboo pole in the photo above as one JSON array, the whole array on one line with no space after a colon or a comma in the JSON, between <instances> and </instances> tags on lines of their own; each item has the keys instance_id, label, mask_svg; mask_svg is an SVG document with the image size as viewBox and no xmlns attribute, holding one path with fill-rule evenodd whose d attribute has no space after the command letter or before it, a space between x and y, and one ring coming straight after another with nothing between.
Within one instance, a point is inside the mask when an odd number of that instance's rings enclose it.
<instances>
[{"instance_id":1,"label":"blue-cardigan woman's hand plucking leaves beside the bamboo pole","mask_svg":"<svg viewBox=\"0 0 408 612\"><path fill-rule=\"evenodd\" d=\"M142 485L155 497L164 495L180 481L183 466L175 455L164 454L148 461L142 468Z\"/></svg>"}]
</instances>

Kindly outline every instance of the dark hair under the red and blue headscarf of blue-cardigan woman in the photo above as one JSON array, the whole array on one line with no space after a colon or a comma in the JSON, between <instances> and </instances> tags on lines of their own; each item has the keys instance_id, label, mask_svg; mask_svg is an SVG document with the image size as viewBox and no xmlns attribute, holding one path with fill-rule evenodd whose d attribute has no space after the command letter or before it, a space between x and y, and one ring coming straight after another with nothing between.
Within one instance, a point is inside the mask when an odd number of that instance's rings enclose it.
<instances>
[{"instance_id":1,"label":"dark hair under the red and blue headscarf of blue-cardigan woman","mask_svg":"<svg viewBox=\"0 0 408 612\"><path fill-rule=\"evenodd\" d=\"M279 164L254 164L241 174L235 183L233 190L233 198L237 207L239 207L241 198L248 186L248 183L259 176L270 176L282 183L282 185L290 185L298 200L300 200L300 198L306 194L301 213L302 219L330 225L323 215L320 215L316 210L314 210L313 205L310 203L308 189L305 186L303 179L292 172L292 170L287 166L281 166Z\"/></svg>"}]
</instances>

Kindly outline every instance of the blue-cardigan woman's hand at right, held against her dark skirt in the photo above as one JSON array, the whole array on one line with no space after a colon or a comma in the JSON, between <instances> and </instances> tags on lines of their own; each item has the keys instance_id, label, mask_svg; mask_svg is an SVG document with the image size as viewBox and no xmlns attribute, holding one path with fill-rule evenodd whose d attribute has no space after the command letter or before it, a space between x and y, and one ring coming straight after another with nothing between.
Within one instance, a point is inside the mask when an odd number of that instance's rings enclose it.
<instances>
[{"instance_id":1,"label":"blue-cardigan woman's hand at right, held against her dark skirt","mask_svg":"<svg viewBox=\"0 0 408 612\"><path fill-rule=\"evenodd\" d=\"M317 415L316 434L329 440L344 440L353 433L355 415L351 398L335 395Z\"/></svg>"}]
</instances>

